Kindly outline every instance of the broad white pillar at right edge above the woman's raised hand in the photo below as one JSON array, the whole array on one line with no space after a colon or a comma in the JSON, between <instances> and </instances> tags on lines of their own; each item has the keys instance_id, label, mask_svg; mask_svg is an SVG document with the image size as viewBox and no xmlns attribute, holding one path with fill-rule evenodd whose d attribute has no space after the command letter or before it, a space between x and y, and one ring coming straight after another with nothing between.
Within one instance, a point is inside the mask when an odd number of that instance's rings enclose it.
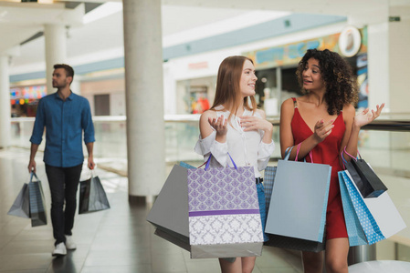
<instances>
[{"instance_id":1,"label":"broad white pillar at right edge above the woman's raised hand","mask_svg":"<svg viewBox=\"0 0 410 273\"><path fill-rule=\"evenodd\" d=\"M389 22L389 16L400 21ZM383 21L368 25L369 106L386 104L385 112L408 112L407 83L410 66L410 8L390 6L379 16Z\"/></svg>"}]
</instances>

